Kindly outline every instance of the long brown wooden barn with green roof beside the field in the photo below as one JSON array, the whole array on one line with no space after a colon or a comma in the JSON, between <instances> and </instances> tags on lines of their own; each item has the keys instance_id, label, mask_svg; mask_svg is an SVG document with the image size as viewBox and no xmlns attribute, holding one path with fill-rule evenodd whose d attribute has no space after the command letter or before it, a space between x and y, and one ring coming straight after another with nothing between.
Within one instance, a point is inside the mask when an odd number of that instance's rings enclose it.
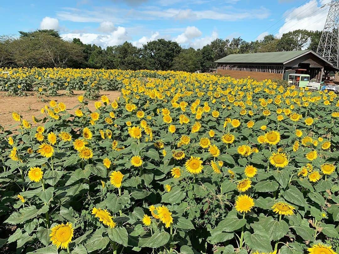
<instances>
[{"instance_id":1,"label":"long brown wooden barn with green roof beside the field","mask_svg":"<svg viewBox=\"0 0 339 254\"><path fill-rule=\"evenodd\" d=\"M288 74L308 74L321 82L324 76L339 69L312 50L232 54L217 61L217 73L233 78L251 76L257 80L288 79Z\"/></svg>"}]
</instances>

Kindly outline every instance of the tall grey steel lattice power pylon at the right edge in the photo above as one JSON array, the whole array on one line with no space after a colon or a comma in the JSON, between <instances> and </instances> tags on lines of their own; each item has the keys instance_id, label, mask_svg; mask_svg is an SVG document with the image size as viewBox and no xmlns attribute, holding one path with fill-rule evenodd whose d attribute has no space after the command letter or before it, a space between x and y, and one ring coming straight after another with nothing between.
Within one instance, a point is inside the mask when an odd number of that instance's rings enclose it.
<instances>
[{"instance_id":1,"label":"tall grey steel lattice power pylon at the right edge","mask_svg":"<svg viewBox=\"0 0 339 254\"><path fill-rule=\"evenodd\" d=\"M330 10L320 37L317 54L339 67L339 0L333 0L325 5L329 5Z\"/></svg>"}]
</instances>

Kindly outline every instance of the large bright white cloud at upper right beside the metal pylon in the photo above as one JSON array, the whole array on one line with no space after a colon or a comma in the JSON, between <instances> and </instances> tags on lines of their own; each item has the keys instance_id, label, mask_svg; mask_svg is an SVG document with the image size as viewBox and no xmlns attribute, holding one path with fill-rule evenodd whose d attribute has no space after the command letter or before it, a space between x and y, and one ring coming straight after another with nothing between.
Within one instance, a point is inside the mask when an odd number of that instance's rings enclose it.
<instances>
[{"instance_id":1,"label":"large bright white cloud at upper right beside the metal pylon","mask_svg":"<svg viewBox=\"0 0 339 254\"><path fill-rule=\"evenodd\" d=\"M287 12L291 12L285 18L284 24L279 28L276 36L281 37L282 34L288 33L297 29L319 30L322 31L325 25L328 6L320 8L323 4L330 0L311 0L304 5ZM319 6L318 6L319 4ZM275 31L273 31L275 32Z\"/></svg>"}]
</instances>

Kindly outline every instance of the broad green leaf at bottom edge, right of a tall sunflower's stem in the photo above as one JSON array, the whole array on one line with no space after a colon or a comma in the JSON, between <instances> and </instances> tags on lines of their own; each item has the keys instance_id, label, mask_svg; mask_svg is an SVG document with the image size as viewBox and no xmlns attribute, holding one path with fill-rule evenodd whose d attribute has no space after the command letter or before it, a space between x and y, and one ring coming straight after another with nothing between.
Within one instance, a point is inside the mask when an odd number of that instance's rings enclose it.
<instances>
[{"instance_id":1,"label":"broad green leaf at bottom edge, right of a tall sunflower's stem","mask_svg":"<svg viewBox=\"0 0 339 254\"><path fill-rule=\"evenodd\" d=\"M250 247L252 250L259 252L272 251L270 237L262 232L251 234L250 232L246 231L244 233L244 240L248 247Z\"/></svg>"}]
</instances>

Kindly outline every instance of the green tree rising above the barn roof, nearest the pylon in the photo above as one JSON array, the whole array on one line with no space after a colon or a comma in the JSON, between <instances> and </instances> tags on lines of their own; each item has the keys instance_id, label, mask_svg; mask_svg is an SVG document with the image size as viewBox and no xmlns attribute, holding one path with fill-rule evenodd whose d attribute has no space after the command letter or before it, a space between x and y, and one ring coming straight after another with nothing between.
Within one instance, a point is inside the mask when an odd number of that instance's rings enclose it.
<instances>
[{"instance_id":1,"label":"green tree rising above the barn roof, nearest the pylon","mask_svg":"<svg viewBox=\"0 0 339 254\"><path fill-rule=\"evenodd\" d=\"M277 44L278 51L302 50L309 43L310 32L307 30L295 30L281 36Z\"/></svg>"}]
</instances>

